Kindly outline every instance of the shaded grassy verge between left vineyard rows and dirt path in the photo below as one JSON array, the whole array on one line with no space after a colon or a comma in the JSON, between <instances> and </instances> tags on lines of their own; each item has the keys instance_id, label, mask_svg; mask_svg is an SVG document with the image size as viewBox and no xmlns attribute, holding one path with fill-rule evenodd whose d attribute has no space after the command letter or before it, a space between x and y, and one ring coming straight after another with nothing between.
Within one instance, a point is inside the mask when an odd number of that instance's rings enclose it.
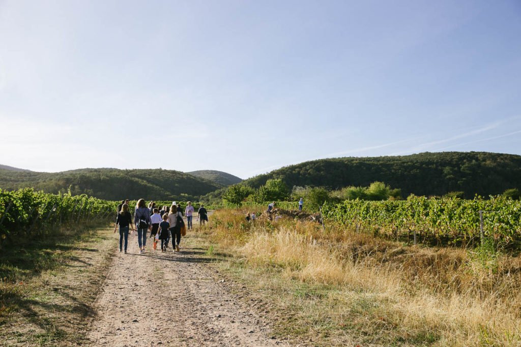
<instances>
[{"instance_id":1,"label":"shaded grassy verge between left vineyard rows and dirt path","mask_svg":"<svg viewBox=\"0 0 521 347\"><path fill-rule=\"evenodd\" d=\"M116 249L106 228L31 240L0 255L3 345L81 345L86 317Z\"/></svg>"}]
</instances>

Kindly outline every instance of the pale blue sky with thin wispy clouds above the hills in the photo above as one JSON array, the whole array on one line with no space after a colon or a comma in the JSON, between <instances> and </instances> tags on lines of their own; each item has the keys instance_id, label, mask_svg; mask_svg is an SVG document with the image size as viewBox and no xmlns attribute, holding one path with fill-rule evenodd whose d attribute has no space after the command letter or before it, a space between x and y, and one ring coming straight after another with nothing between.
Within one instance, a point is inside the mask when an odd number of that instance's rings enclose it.
<instances>
[{"instance_id":1,"label":"pale blue sky with thin wispy clouds above the hills","mask_svg":"<svg viewBox=\"0 0 521 347\"><path fill-rule=\"evenodd\" d=\"M0 164L521 155L521 2L0 0Z\"/></svg>"}]
</instances>

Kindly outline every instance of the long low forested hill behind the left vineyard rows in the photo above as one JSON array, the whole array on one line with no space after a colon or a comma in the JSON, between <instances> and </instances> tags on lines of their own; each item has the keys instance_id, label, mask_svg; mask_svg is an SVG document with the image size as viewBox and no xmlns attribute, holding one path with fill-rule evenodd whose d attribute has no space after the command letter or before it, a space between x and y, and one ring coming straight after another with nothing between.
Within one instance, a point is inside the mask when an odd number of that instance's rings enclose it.
<instances>
[{"instance_id":1,"label":"long low forested hill behind the left vineyard rows","mask_svg":"<svg viewBox=\"0 0 521 347\"><path fill-rule=\"evenodd\" d=\"M0 188L88 194L100 199L194 199L223 185L174 170L80 169L57 173L0 169Z\"/></svg>"}]
</instances>

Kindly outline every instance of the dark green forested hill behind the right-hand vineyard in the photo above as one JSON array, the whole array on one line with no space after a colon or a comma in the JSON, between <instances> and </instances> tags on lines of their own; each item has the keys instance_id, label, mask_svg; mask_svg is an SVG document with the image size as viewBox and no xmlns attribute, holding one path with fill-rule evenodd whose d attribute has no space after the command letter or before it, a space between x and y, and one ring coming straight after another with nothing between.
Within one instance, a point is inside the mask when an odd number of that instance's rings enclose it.
<instances>
[{"instance_id":1,"label":"dark green forested hill behind the right-hand vineyard","mask_svg":"<svg viewBox=\"0 0 521 347\"><path fill-rule=\"evenodd\" d=\"M401 188L402 196L444 195L463 191L465 197L501 194L521 188L521 156L489 152L419 153L410 156L335 158L307 161L243 181L257 188L281 178L293 186L368 186L381 181Z\"/></svg>"}]
</instances>

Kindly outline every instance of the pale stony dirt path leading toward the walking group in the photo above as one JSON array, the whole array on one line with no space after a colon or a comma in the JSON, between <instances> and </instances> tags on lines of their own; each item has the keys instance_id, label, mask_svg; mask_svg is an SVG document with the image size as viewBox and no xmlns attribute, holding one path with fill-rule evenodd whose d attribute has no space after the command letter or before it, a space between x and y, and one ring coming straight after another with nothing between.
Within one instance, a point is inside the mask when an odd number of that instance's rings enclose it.
<instances>
[{"instance_id":1,"label":"pale stony dirt path leading toward the walking group","mask_svg":"<svg viewBox=\"0 0 521 347\"><path fill-rule=\"evenodd\" d=\"M129 253L116 255L96 302L92 345L288 345L270 335L267 307L242 299L246 289L221 277L204 250L181 240L180 252L170 244L162 253L149 238L139 254L135 234Z\"/></svg>"}]
</instances>

